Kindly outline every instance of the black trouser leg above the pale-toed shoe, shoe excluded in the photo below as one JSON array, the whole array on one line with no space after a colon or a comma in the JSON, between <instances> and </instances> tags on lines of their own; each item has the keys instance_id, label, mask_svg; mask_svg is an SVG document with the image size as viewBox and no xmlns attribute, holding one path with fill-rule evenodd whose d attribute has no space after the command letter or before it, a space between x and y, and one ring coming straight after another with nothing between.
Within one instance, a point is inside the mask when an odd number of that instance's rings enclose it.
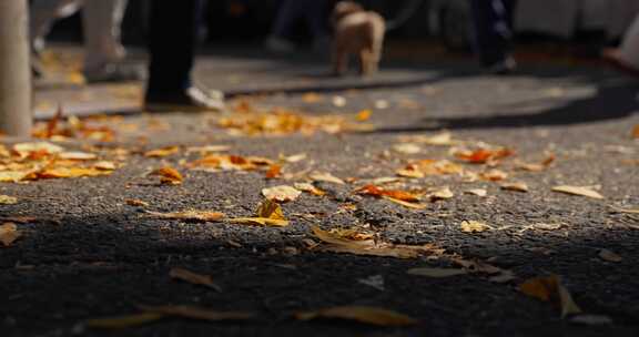
<instances>
[{"instance_id":1,"label":"black trouser leg above the pale-toed shoe, shoe excluded","mask_svg":"<svg viewBox=\"0 0 639 337\"><path fill-rule=\"evenodd\" d=\"M183 94L191 86L201 0L151 1L146 96Z\"/></svg>"}]
</instances>

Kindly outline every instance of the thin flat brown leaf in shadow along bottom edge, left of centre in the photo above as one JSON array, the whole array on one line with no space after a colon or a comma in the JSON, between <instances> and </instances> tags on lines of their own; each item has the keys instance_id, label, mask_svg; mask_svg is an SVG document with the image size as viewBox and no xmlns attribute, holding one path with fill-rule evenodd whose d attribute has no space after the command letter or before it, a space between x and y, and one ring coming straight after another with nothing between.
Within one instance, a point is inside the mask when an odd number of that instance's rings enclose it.
<instances>
[{"instance_id":1,"label":"thin flat brown leaf in shadow along bottom edge, left of centre","mask_svg":"<svg viewBox=\"0 0 639 337\"><path fill-rule=\"evenodd\" d=\"M251 313L244 312L213 312L210 309L179 305L179 306L140 306L140 309L152 313L160 314L163 316L175 316L183 318L191 318L197 320L209 320L209 321L220 321L220 320L247 320L254 317Z\"/></svg>"}]
</instances>

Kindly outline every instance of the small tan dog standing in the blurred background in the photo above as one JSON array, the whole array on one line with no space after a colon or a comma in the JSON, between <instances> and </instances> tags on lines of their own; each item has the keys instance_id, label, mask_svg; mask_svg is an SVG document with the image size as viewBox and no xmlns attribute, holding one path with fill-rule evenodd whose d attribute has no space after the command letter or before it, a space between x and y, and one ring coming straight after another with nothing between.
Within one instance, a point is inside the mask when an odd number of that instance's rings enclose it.
<instances>
[{"instance_id":1,"label":"small tan dog standing in the blurred background","mask_svg":"<svg viewBox=\"0 0 639 337\"><path fill-rule=\"evenodd\" d=\"M359 73L377 71L382 58L386 22L382 16L366 11L353 1L339 1L332 17L335 29L333 42L333 71L342 75L348 68L348 57L359 59Z\"/></svg>"}]
</instances>

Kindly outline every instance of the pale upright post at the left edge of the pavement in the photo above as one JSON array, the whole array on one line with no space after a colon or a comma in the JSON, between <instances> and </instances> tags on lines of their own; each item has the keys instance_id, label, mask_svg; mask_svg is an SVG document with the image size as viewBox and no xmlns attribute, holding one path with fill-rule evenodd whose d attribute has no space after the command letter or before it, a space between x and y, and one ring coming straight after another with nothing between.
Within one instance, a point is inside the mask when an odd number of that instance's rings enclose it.
<instances>
[{"instance_id":1,"label":"pale upright post at the left edge of the pavement","mask_svg":"<svg viewBox=\"0 0 639 337\"><path fill-rule=\"evenodd\" d=\"M0 133L31 134L27 0L0 0Z\"/></svg>"}]
</instances>

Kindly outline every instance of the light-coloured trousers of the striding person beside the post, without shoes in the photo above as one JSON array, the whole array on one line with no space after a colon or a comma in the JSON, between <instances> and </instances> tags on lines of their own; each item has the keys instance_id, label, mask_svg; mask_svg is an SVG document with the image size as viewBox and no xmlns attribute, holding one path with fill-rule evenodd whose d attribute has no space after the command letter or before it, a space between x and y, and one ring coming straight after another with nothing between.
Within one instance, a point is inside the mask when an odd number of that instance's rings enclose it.
<instances>
[{"instance_id":1,"label":"light-coloured trousers of the striding person beside the post, without shoes","mask_svg":"<svg viewBox=\"0 0 639 337\"><path fill-rule=\"evenodd\" d=\"M124 58L120 24L128 0L34 0L31 3L30 34L34 48L42 48L54 20L73 14L83 6L84 71L95 71Z\"/></svg>"}]
</instances>

